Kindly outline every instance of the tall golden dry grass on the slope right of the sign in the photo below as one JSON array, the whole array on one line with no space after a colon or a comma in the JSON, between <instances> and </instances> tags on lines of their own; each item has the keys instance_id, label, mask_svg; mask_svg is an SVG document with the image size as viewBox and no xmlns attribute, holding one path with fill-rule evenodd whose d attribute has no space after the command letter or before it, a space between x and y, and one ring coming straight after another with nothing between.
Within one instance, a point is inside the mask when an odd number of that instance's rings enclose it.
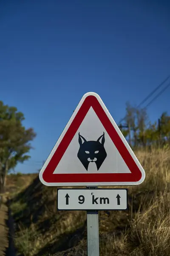
<instances>
[{"instance_id":1,"label":"tall golden dry grass on the slope right of the sign","mask_svg":"<svg viewBox=\"0 0 170 256\"><path fill-rule=\"evenodd\" d=\"M170 255L170 151L136 153L146 172L140 186L129 188L132 196L128 229L120 236L103 241L101 255L168 256ZM141 195L133 212L133 198ZM114 231L114 230L113 230ZM108 242L109 241L109 242Z\"/></svg>"}]
</instances>

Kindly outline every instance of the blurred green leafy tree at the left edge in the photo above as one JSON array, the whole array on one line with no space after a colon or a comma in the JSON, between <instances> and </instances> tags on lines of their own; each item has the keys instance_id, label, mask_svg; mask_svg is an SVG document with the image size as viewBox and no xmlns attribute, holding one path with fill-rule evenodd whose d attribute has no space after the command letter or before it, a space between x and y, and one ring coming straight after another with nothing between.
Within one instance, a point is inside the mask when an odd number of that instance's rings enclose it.
<instances>
[{"instance_id":1,"label":"blurred green leafy tree at the left edge","mask_svg":"<svg viewBox=\"0 0 170 256\"><path fill-rule=\"evenodd\" d=\"M30 156L30 141L36 134L32 128L26 129L22 122L24 115L15 107L4 105L0 101L0 190L6 183L6 174L17 163L23 163Z\"/></svg>"}]
</instances>

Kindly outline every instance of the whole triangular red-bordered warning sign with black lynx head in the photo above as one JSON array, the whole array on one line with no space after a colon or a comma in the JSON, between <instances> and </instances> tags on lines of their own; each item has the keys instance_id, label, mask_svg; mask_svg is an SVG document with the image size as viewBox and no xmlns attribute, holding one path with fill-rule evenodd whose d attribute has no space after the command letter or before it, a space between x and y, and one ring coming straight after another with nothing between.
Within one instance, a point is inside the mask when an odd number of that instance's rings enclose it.
<instances>
[{"instance_id":1,"label":"whole triangular red-bordered warning sign with black lynx head","mask_svg":"<svg viewBox=\"0 0 170 256\"><path fill-rule=\"evenodd\" d=\"M139 185L145 172L102 99L86 93L39 174L46 186Z\"/></svg>"}]
</instances>

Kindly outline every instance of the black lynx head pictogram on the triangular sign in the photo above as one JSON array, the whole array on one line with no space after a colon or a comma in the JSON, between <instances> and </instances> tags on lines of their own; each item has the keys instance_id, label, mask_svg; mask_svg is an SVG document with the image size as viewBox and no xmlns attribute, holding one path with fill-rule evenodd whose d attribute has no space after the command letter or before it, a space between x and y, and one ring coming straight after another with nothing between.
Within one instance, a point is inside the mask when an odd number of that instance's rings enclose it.
<instances>
[{"instance_id":1,"label":"black lynx head pictogram on the triangular sign","mask_svg":"<svg viewBox=\"0 0 170 256\"><path fill-rule=\"evenodd\" d=\"M99 140L101 140L101 143ZM79 134L79 151L77 157L80 162L83 164L86 170L88 170L88 165L90 162L95 162L97 166L97 170L99 170L100 166L104 162L107 157L107 153L104 148L105 143L105 133L99 137L96 141L91 140L87 141L84 137Z\"/></svg>"}]
</instances>

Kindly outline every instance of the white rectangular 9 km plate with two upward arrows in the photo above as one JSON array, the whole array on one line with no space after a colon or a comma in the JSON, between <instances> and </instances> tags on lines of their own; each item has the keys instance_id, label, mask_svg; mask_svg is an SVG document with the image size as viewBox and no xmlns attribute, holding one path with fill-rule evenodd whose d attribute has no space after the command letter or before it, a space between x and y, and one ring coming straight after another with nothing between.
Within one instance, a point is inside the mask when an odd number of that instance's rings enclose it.
<instances>
[{"instance_id":1,"label":"white rectangular 9 km plate with two upward arrows","mask_svg":"<svg viewBox=\"0 0 170 256\"><path fill-rule=\"evenodd\" d=\"M57 189L57 210L127 210L127 189Z\"/></svg>"}]
</instances>

